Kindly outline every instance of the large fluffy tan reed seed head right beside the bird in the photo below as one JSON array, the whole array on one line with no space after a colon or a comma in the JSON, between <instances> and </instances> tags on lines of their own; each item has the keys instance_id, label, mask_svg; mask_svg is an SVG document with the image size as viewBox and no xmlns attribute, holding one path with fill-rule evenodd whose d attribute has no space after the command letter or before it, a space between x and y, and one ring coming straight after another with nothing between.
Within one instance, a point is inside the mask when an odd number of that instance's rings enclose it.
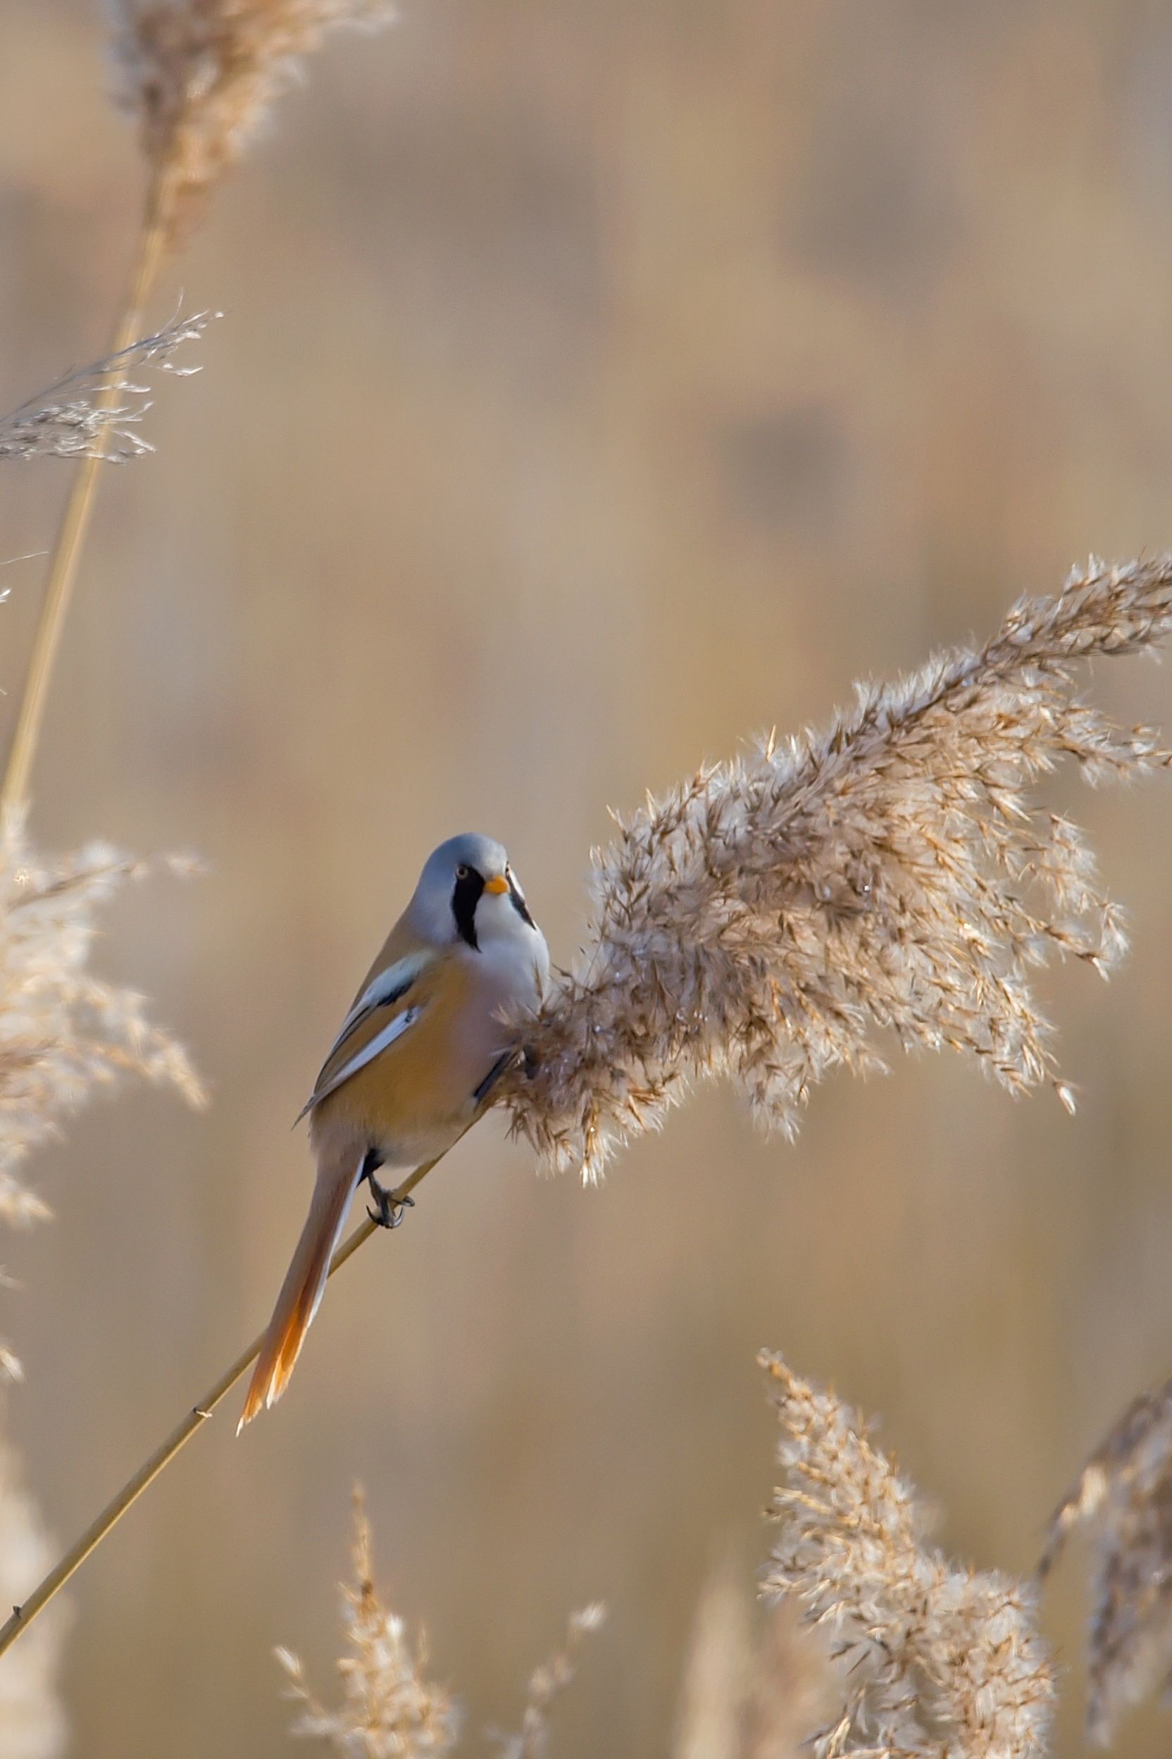
<instances>
[{"instance_id":1,"label":"large fluffy tan reed seed head right beside the bird","mask_svg":"<svg viewBox=\"0 0 1172 1759\"><path fill-rule=\"evenodd\" d=\"M515 1131L550 1168L596 1177L726 1075L792 1135L831 1069L884 1068L880 1034L965 1052L1010 1092L1049 1080L1070 1106L1030 973L1074 955L1105 974L1126 936L1082 832L1030 790L1067 756L1089 781L1168 762L1070 681L1168 628L1172 558L1091 558L984 647L863 684L824 734L650 799L594 853L585 946L518 1022Z\"/></svg>"}]
</instances>

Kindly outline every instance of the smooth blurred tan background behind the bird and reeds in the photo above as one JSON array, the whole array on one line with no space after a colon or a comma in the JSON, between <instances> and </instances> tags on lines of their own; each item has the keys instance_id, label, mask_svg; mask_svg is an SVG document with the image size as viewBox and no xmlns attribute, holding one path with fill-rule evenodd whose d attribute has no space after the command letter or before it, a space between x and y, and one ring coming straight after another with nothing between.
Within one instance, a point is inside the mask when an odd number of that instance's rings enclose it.
<instances>
[{"instance_id":1,"label":"smooth blurred tan background behind the bird and reeds","mask_svg":"<svg viewBox=\"0 0 1172 1759\"><path fill-rule=\"evenodd\" d=\"M84 0L0 12L0 406L100 352L141 169ZM111 473L35 836L195 848L109 973L214 1106L90 1110L5 1259L28 1474L72 1536L267 1316L297 1112L422 857L504 837L555 957L606 807L861 674L1172 538L1172 12L1140 0L404 0L216 199L227 318ZM4 554L69 466L4 477ZM42 563L7 570L16 691ZM1103 668L1172 725L1172 674ZM763 1553L761 1344L884 1414L949 1548L1024 1571L1116 1409L1172 1369L1172 795L1089 821L1135 957L1044 978L1067 1073L819 1091L796 1143L710 1091L601 1191L485 1124L334 1286L286 1402L220 1421L79 1578L88 1759L290 1750L325 1690L350 1486L481 1724L603 1597L557 1752L664 1754L696 1601ZM1047 1629L1081 1750L1081 1558ZM1133 1759L1167 1752L1142 1712Z\"/></svg>"}]
</instances>

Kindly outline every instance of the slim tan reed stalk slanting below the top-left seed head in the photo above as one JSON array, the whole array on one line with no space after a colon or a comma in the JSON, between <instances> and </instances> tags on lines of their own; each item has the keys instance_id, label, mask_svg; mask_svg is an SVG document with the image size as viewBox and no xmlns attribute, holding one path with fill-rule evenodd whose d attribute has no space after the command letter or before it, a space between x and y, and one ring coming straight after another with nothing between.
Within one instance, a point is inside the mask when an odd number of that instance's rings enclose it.
<instances>
[{"instance_id":1,"label":"slim tan reed stalk slanting below the top-left seed head","mask_svg":"<svg viewBox=\"0 0 1172 1759\"><path fill-rule=\"evenodd\" d=\"M144 332L146 304L167 255L167 243L174 220L176 188L174 169L167 164L158 165L148 188L135 260L127 281L121 317L118 318L109 347L111 355L123 354ZM95 405L98 410L107 410L114 405L116 398L118 373L111 369L105 385L95 399ZM77 466L74 485L69 493L69 501L65 503L65 514L61 515L56 544L53 547L49 579L28 660L25 690L16 711L12 742L4 767L4 779L0 781L0 816L5 820L21 818L28 806L28 783L32 777L33 758L37 756L37 741L44 721L49 681L53 677L65 617L69 614L74 584L77 580L81 549L86 540L86 531L90 529L90 515L93 514L100 464L102 442L98 438L95 452L83 457Z\"/></svg>"}]
</instances>

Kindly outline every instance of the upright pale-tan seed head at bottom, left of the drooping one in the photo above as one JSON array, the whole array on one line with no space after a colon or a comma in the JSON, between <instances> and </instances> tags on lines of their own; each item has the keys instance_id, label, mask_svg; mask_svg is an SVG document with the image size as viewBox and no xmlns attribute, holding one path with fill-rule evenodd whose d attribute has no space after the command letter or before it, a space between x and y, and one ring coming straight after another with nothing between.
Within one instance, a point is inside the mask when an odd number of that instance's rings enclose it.
<instances>
[{"instance_id":1,"label":"upright pale-tan seed head at bottom, left of the drooping one","mask_svg":"<svg viewBox=\"0 0 1172 1759\"><path fill-rule=\"evenodd\" d=\"M824 1627L843 1668L842 1712L815 1736L817 1759L1042 1754L1054 1680L1033 1592L928 1546L914 1488L856 1412L780 1356L759 1360L784 1472L764 1592Z\"/></svg>"}]
</instances>

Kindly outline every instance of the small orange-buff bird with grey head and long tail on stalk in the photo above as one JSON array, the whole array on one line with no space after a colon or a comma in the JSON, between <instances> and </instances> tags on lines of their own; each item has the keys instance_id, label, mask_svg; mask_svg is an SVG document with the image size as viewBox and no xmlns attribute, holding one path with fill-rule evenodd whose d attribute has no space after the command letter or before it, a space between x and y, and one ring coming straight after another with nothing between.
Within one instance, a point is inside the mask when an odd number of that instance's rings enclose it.
<instances>
[{"instance_id":1,"label":"small orange-buff bird with grey head and long tail on stalk","mask_svg":"<svg viewBox=\"0 0 1172 1759\"><path fill-rule=\"evenodd\" d=\"M371 1217L397 1226L402 1205L376 1173L422 1166L462 1136L517 1055L503 1011L536 1004L548 971L545 936L501 844L473 834L441 843L302 1108L318 1180L237 1435L288 1384L355 1191L365 1180Z\"/></svg>"}]
</instances>

